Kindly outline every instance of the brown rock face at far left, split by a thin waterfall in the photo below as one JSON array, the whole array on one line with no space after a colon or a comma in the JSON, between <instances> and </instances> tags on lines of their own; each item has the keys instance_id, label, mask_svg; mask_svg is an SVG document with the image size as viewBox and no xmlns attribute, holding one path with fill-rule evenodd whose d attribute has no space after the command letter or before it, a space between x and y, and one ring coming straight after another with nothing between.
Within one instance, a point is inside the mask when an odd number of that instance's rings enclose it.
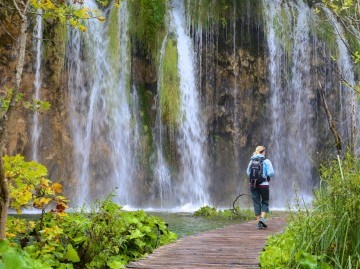
<instances>
[{"instance_id":1,"label":"brown rock face at far left, split by a thin waterfall","mask_svg":"<svg viewBox=\"0 0 360 269\"><path fill-rule=\"evenodd\" d=\"M19 19L14 14L0 18L4 27L0 29L0 91L11 89L14 86L18 50L15 38L18 36ZM30 101L34 94L35 58L33 50L32 27L28 28L28 43L26 48L25 65L21 81L20 92L24 94L22 101ZM49 111L39 114L42 125L42 134L39 144L39 162L49 171L51 179L60 182L75 182L72 178L72 139L68 128L66 78L63 72L63 45L59 46L59 34L56 27L49 26L49 32L44 35L44 54L42 65L41 99L51 104ZM52 41L51 41L52 40ZM54 40L56 44L54 44ZM47 44L46 44L47 42ZM46 49L46 45L52 50ZM6 154L23 154L31 160L32 142L31 125L34 112L25 109L22 102L17 104L7 126Z\"/></svg>"}]
</instances>

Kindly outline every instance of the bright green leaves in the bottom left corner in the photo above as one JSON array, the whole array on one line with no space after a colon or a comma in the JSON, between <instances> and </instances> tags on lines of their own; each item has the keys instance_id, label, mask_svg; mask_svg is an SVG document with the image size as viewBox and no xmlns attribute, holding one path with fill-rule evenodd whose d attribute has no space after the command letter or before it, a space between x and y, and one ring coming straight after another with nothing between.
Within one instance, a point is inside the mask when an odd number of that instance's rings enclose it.
<instances>
[{"instance_id":1,"label":"bright green leaves in the bottom left corner","mask_svg":"<svg viewBox=\"0 0 360 269\"><path fill-rule=\"evenodd\" d=\"M6 240L0 241L0 268L16 269L51 269L30 257L28 253L20 249L16 244L10 244Z\"/></svg>"}]
</instances>

